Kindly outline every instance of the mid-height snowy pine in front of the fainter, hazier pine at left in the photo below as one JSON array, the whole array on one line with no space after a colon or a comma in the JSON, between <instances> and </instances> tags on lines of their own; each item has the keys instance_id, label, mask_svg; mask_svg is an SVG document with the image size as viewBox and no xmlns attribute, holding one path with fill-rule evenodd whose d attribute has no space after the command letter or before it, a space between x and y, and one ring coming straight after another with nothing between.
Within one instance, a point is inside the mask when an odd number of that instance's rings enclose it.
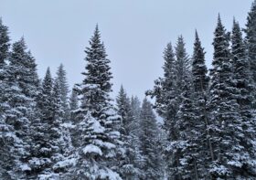
<instances>
[{"instance_id":1,"label":"mid-height snowy pine in front of the fainter, hazier pine at left","mask_svg":"<svg viewBox=\"0 0 256 180\"><path fill-rule=\"evenodd\" d=\"M48 68L37 96L37 119L31 127L34 143L29 160L31 178L54 179L61 174L58 162L64 158L67 145L61 130L64 111L60 97L59 80L53 81Z\"/></svg>"}]
</instances>

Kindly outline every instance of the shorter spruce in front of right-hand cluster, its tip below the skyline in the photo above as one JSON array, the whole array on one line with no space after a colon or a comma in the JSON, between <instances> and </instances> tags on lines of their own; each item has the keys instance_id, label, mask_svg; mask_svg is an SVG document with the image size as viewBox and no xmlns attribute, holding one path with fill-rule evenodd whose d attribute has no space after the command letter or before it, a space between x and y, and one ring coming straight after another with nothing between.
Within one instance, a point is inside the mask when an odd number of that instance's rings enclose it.
<instances>
[{"instance_id":1,"label":"shorter spruce in front of right-hand cluster, its tip below the skyline","mask_svg":"<svg viewBox=\"0 0 256 180\"><path fill-rule=\"evenodd\" d=\"M198 161L200 158L198 146L197 119L192 99L191 81L185 79L185 86L181 94L181 104L177 111L175 129L177 140L172 141L173 149L178 153L177 174L182 179L199 179Z\"/></svg>"}]
</instances>

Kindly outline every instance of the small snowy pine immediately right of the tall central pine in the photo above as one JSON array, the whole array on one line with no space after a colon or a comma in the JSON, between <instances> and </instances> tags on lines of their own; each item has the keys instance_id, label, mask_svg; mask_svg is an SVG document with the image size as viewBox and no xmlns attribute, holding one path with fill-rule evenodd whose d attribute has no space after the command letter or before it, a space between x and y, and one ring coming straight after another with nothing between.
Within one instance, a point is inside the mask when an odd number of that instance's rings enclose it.
<instances>
[{"instance_id":1,"label":"small snowy pine immediately right of the tall central pine","mask_svg":"<svg viewBox=\"0 0 256 180\"><path fill-rule=\"evenodd\" d=\"M138 136L134 131L134 121L132 106L130 99L128 98L123 86L118 93L116 98L117 103L117 113L122 117L122 122L120 124L119 132L121 132L121 140L123 144L120 147L120 160L117 162L119 164L119 172L123 179L135 179L140 175L139 164L137 163L140 158L140 154L135 143L138 142Z\"/></svg>"}]
</instances>

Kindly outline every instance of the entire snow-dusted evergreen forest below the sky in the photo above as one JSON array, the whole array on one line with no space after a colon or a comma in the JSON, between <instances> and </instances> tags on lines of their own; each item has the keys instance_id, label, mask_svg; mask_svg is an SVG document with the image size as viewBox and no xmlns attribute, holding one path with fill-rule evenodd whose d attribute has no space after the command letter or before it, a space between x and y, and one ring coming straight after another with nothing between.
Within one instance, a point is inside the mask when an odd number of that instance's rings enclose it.
<instances>
[{"instance_id":1,"label":"entire snow-dusted evergreen forest below the sky","mask_svg":"<svg viewBox=\"0 0 256 180\"><path fill-rule=\"evenodd\" d=\"M197 31L191 56L184 37L168 43L142 102L123 86L112 98L98 26L89 42L70 88L62 64L40 79L0 20L0 179L256 179L256 1L244 28L218 16L211 69Z\"/></svg>"}]
</instances>

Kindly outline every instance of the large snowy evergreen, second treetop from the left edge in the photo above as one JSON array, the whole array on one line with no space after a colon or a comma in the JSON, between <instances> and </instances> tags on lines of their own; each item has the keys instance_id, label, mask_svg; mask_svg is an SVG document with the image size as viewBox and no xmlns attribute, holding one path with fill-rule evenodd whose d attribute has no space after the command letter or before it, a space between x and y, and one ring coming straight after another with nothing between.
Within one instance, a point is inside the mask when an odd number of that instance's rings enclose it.
<instances>
[{"instance_id":1,"label":"large snowy evergreen, second treetop from the left edge","mask_svg":"<svg viewBox=\"0 0 256 180\"><path fill-rule=\"evenodd\" d=\"M27 159L30 156L31 144L29 127L34 113L32 92L36 93L35 91L37 91L35 89L27 90L27 87L34 88L30 81L34 77L29 76L31 69L29 69L30 62L27 55L27 46L22 37L13 44L9 64L6 67L4 95L9 106L5 110L5 122L14 128L18 139L13 144L16 165L13 167L12 175L17 175L20 179L26 179L26 173L30 170L27 166Z\"/></svg>"}]
</instances>

